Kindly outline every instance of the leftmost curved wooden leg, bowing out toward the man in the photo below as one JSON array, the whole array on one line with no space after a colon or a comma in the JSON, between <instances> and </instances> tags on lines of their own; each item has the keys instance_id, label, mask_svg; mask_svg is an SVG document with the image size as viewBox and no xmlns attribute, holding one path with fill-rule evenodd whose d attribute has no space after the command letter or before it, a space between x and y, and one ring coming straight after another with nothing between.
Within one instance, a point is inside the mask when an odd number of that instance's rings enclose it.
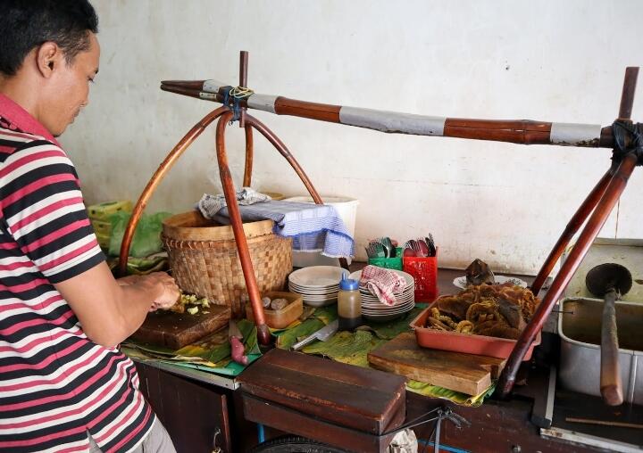
<instances>
[{"instance_id":1,"label":"leftmost curved wooden leg, bowing out toward the man","mask_svg":"<svg viewBox=\"0 0 643 453\"><path fill-rule=\"evenodd\" d=\"M121 243L121 255L119 259L119 275L125 276L127 272L127 261L129 256L129 245L131 245L132 238L134 237L134 232L138 225L138 220L145 210L147 201L150 199L156 186L163 180L163 177L170 171L172 165L179 160L181 154L188 149L188 146L196 140L197 136L200 136L201 133L207 128L214 119L219 118L224 112L229 111L228 107L219 107L215 111L211 111L203 119L196 123L196 125L191 128L183 138L180 139L180 142L172 148L171 152L167 155L165 160L159 165L159 168L156 169L152 178L146 185L146 188L143 189L140 197L138 197L138 202L134 206L131 217L129 218L129 223L127 228L125 228L125 233L123 234L122 243Z\"/></svg>"}]
</instances>

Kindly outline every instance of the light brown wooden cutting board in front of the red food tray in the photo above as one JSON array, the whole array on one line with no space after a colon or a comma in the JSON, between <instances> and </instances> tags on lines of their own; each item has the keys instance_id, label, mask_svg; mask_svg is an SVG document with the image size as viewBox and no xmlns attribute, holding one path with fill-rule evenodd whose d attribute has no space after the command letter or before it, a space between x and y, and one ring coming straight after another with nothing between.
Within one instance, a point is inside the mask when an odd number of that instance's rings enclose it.
<instances>
[{"instance_id":1,"label":"light brown wooden cutting board in front of the red food tray","mask_svg":"<svg viewBox=\"0 0 643 453\"><path fill-rule=\"evenodd\" d=\"M418 346L415 334L399 334L368 354L372 367L468 395L478 395L500 375L505 358Z\"/></svg>"}]
</instances>

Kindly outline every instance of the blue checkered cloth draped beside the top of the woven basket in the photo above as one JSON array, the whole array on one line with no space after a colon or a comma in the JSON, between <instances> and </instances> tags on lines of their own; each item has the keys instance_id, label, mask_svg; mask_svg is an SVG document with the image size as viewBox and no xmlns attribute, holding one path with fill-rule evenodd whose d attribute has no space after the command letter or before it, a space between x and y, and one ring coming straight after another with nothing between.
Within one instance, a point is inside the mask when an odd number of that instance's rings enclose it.
<instances>
[{"instance_id":1,"label":"blue checkered cloth draped beside the top of the woven basket","mask_svg":"<svg viewBox=\"0 0 643 453\"><path fill-rule=\"evenodd\" d=\"M239 210L244 221L274 220L274 233L292 237L294 251L321 251L330 258L355 256L355 241L333 206L273 200L239 206ZM230 225L227 207L205 217Z\"/></svg>"}]
</instances>

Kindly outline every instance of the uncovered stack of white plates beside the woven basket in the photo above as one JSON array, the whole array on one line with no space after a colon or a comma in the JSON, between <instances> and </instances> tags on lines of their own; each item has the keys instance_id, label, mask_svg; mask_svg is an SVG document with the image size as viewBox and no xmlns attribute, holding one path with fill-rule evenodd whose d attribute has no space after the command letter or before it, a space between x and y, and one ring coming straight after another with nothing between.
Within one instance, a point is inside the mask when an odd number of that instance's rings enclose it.
<instances>
[{"instance_id":1,"label":"uncovered stack of white plates beside the woven basket","mask_svg":"<svg viewBox=\"0 0 643 453\"><path fill-rule=\"evenodd\" d=\"M311 266L288 276L288 288L302 295L306 305L324 307L337 302L339 280L344 269L336 266Z\"/></svg>"}]
</instances>

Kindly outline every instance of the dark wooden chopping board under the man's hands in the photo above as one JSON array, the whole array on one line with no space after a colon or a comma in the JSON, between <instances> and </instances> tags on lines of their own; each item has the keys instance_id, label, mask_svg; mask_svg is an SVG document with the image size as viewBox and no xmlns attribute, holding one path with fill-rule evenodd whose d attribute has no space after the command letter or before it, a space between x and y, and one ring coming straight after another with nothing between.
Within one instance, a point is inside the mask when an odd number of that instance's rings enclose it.
<instances>
[{"instance_id":1,"label":"dark wooden chopping board under the man's hands","mask_svg":"<svg viewBox=\"0 0 643 453\"><path fill-rule=\"evenodd\" d=\"M196 315L174 313L169 310L149 313L143 325L131 335L131 338L138 342L180 350L183 346L228 325L230 307L211 305L205 311L209 313L203 313L202 309L199 309Z\"/></svg>"}]
</instances>

